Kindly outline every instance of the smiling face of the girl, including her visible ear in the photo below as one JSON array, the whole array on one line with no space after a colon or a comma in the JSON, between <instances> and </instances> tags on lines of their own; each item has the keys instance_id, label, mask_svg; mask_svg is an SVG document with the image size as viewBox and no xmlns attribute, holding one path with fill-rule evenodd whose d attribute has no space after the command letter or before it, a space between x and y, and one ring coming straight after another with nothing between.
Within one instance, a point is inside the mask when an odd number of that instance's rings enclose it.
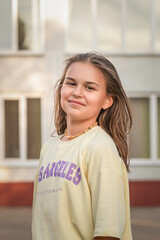
<instances>
[{"instance_id":1,"label":"smiling face of the girl, including her visible ear","mask_svg":"<svg viewBox=\"0 0 160 240\"><path fill-rule=\"evenodd\" d=\"M101 109L112 103L112 97L106 96L106 81L98 68L83 62L69 67L61 89L61 106L67 119L93 124Z\"/></svg>"}]
</instances>

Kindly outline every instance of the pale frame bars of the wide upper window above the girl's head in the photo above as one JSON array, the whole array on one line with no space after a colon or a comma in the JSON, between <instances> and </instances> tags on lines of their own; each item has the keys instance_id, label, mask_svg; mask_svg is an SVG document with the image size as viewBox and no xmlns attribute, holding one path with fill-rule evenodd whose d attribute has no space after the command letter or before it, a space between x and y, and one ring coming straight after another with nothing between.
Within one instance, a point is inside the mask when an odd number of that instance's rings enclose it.
<instances>
[{"instance_id":1,"label":"pale frame bars of the wide upper window above the girl's head","mask_svg":"<svg viewBox=\"0 0 160 240\"><path fill-rule=\"evenodd\" d=\"M150 56L150 55L156 55L160 56L160 51L156 51L156 22L155 22L155 0L150 0L150 50L149 51L129 51L126 47L126 12L127 12L127 0L120 0L121 1L121 49L119 51L103 51L104 55L127 55L127 56ZM69 9L69 0L67 0L68 8ZM94 51L99 51L97 48L97 31L96 31L96 18L97 18L97 4L98 0L90 0L91 3L91 18L92 18L92 46L91 49ZM67 29L69 29L69 12L68 12L68 19L67 19ZM73 54L74 52L67 49L67 37L68 37L68 31L66 29L65 33L65 53L66 55ZM77 49L78 50L78 49Z\"/></svg>"}]
</instances>

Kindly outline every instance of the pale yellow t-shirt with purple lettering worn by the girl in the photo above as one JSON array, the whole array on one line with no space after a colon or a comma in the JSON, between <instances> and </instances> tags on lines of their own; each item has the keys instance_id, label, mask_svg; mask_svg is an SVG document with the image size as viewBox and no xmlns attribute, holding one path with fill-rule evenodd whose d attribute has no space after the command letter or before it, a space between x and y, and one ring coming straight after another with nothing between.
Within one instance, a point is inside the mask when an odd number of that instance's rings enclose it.
<instances>
[{"instance_id":1,"label":"pale yellow t-shirt with purple lettering worn by the girl","mask_svg":"<svg viewBox=\"0 0 160 240\"><path fill-rule=\"evenodd\" d=\"M43 145L32 227L33 240L132 239L126 168L101 127Z\"/></svg>"}]
</instances>

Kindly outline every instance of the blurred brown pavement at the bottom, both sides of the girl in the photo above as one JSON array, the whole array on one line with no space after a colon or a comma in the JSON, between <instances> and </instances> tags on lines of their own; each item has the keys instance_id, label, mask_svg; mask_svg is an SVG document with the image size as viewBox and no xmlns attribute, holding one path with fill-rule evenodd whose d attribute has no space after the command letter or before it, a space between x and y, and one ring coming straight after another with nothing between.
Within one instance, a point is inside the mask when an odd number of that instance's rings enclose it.
<instances>
[{"instance_id":1,"label":"blurred brown pavement at the bottom, both sides of the girl","mask_svg":"<svg viewBox=\"0 0 160 240\"><path fill-rule=\"evenodd\" d=\"M160 240L160 207L132 208L131 220L134 240ZM31 240L31 208L0 208L0 240Z\"/></svg>"}]
</instances>

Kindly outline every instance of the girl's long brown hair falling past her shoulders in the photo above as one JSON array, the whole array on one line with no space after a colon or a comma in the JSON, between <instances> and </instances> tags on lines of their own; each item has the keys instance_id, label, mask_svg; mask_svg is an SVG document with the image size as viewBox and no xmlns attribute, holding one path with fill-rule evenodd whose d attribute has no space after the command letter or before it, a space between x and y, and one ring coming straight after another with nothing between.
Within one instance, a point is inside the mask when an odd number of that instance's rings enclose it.
<instances>
[{"instance_id":1,"label":"girl's long brown hair falling past her shoulders","mask_svg":"<svg viewBox=\"0 0 160 240\"><path fill-rule=\"evenodd\" d=\"M67 127L66 113L60 104L61 88L66 72L71 64L75 62L86 62L97 67L103 73L106 80L106 94L112 96L114 102L106 110L101 110L97 122L112 137L119 155L129 170L129 151L127 135L132 126L131 105L122 87L118 73L113 64L103 55L95 52L76 54L65 60L65 69L62 78L56 84L55 91L55 127L58 135L63 134Z\"/></svg>"}]
</instances>

